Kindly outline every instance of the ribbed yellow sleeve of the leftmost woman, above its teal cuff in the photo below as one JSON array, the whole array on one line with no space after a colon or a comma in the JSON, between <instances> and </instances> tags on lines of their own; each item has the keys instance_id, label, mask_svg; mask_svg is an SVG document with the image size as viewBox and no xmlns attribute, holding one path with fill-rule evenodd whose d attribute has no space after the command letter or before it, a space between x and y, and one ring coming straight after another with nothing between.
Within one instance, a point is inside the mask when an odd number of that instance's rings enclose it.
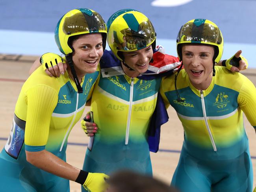
<instances>
[{"instance_id":1,"label":"ribbed yellow sleeve of the leftmost woman, above its teal cuff","mask_svg":"<svg viewBox=\"0 0 256 192\"><path fill-rule=\"evenodd\" d=\"M44 146L48 140L50 119L58 102L58 93L51 87L37 85L26 91L26 98L25 144Z\"/></svg>"}]
</instances>

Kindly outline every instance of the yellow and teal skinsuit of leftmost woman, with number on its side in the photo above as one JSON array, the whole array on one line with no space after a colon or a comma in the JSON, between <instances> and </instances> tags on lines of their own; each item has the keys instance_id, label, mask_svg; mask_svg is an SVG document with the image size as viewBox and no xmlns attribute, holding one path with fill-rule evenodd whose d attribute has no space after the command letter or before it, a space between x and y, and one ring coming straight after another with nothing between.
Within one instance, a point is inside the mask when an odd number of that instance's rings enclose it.
<instances>
[{"instance_id":1,"label":"yellow and teal skinsuit of leftmost woman, with number on its side","mask_svg":"<svg viewBox=\"0 0 256 192\"><path fill-rule=\"evenodd\" d=\"M81 94L67 72L60 78L51 78L39 67L26 80L16 103L11 133L0 153L0 177L7 188L10 185L9 189L18 191L69 191L67 179L28 163L25 150L45 149L66 160L67 138L82 116L98 75L97 70L84 76Z\"/></svg>"}]
</instances>

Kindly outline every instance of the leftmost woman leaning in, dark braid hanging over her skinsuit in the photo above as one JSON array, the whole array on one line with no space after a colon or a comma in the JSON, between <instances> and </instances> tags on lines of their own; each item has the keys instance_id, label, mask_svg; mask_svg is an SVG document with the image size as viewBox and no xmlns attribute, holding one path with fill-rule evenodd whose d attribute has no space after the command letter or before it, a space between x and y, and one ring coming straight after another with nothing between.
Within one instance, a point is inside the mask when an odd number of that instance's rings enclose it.
<instances>
[{"instance_id":1,"label":"leftmost woman leaning in, dark braid hanging over her skinsuit","mask_svg":"<svg viewBox=\"0 0 256 192\"><path fill-rule=\"evenodd\" d=\"M3 191L68 192L69 180L89 191L104 187L107 175L71 166L66 162L66 148L69 133L82 116L99 76L97 66L106 46L106 33L104 20L91 9L73 9L59 20L55 40L65 54L60 61L66 59L67 72L58 79L51 78L41 66L24 83L13 127L0 153ZM41 62L46 62L44 57ZM44 66L52 65L48 62Z\"/></svg>"}]
</instances>

